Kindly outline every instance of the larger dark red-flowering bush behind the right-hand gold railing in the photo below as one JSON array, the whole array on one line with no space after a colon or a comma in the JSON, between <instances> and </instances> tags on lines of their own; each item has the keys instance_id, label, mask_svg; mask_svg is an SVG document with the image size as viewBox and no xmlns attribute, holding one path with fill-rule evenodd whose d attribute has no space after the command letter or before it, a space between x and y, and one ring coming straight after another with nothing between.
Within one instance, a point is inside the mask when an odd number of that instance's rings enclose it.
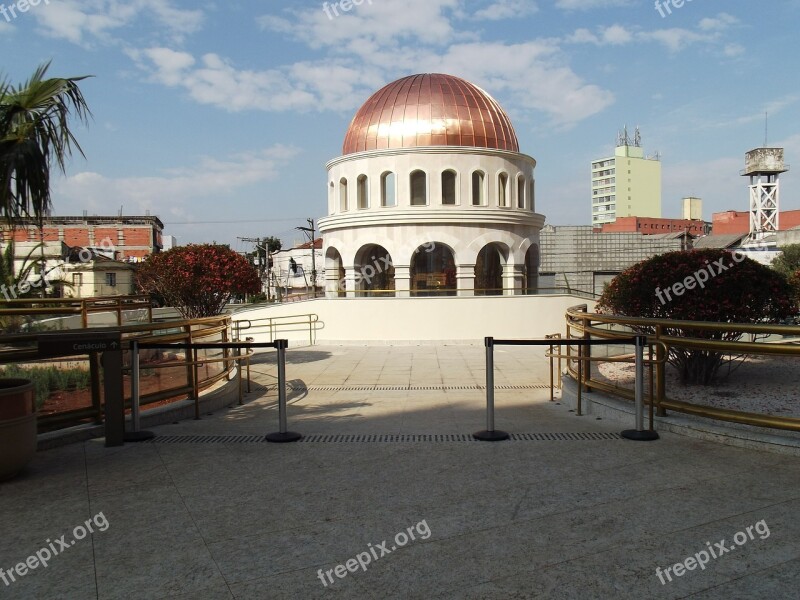
<instances>
[{"instance_id":1,"label":"larger dark red-flowering bush behind the right-hand gold railing","mask_svg":"<svg viewBox=\"0 0 800 600\"><path fill-rule=\"evenodd\" d=\"M668 252L642 261L611 281L597 305L601 313L716 323L779 322L797 312L797 296L780 273L727 250ZM652 334L654 327L637 327ZM740 339L740 332L667 328L666 335ZM741 357L739 357L741 358ZM716 352L670 348L669 362L685 383L713 383L724 364Z\"/></svg>"}]
</instances>

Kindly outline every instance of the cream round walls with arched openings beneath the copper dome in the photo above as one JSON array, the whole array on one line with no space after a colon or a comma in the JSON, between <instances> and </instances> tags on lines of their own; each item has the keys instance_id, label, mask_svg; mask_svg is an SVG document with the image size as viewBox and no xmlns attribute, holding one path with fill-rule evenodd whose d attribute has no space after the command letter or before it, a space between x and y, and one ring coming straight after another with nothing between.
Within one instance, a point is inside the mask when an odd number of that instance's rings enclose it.
<instances>
[{"instance_id":1,"label":"cream round walls with arched openings beneath the copper dome","mask_svg":"<svg viewBox=\"0 0 800 600\"><path fill-rule=\"evenodd\" d=\"M452 253L458 295L475 293L476 264L487 246L502 269L492 293L535 288L544 225L535 211L535 166L518 152L465 147L371 150L330 161L328 217L319 221L328 297L359 295L373 271L389 268L376 246L393 268L389 295L420 292L413 258L435 246ZM422 174L423 195L419 183L414 194L412 174ZM446 177L455 179L449 192Z\"/></svg>"}]
</instances>

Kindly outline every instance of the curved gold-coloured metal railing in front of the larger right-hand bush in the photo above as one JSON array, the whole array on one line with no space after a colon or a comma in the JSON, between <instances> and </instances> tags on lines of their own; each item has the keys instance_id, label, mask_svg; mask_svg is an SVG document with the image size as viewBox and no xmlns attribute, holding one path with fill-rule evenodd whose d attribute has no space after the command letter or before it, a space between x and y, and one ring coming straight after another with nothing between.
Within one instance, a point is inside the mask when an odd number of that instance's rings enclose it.
<instances>
[{"instance_id":1,"label":"curved gold-coloured metal railing in front of the larger right-hand bush","mask_svg":"<svg viewBox=\"0 0 800 600\"><path fill-rule=\"evenodd\" d=\"M569 308L566 313L567 340L570 339L619 339L629 337L632 333L646 335L648 353L655 358L649 362L651 369L648 402L654 404L659 416L666 416L667 410L673 410L694 416L728 421L743 425L800 431L800 418L767 415L729 408L694 404L682 400L671 399L666 389L666 364L670 351L674 349L694 349L723 356L788 356L800 357L800 345L789 342L759 342L758 336L782 336L797 338L800 326L754 323L711 323L705 321L684 321L667 319L645 319L615 315L601 315L587 312L586 305ZM612 329L616 328L616 329ZM697 334L742 334L750 335L751 341L726 341L681 335ZM694 333L697 332L697 333ZM565 340L565 344L567 341ZM579 359L583 360L579 360ZM610 394L631 399L630 390L620 388L608 381L592 376L591 368L576 368L575 361L581 365L587 357L576 357L567 346L567 371L586 389L597 389ZM591 357L589 357L591 358ZM621 359L624 359L622 357ZM593 362L613 362L610 357L592 358ZM591 363L589 363L591 364ZM655 368L655 375L652 369Z\"/></svg>"}]
</instances>

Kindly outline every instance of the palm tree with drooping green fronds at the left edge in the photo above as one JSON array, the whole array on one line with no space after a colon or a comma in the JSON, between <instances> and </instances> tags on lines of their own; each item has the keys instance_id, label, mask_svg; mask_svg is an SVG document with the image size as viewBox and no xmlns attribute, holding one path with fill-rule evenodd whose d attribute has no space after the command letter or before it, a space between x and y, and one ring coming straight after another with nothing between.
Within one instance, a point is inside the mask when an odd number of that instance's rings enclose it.
<instances>
[{"instance_id":1,"label":"palm tree with drooping green fronds at the left edge","mask_svg":"<svg viewBox=\"0 0 800 600\"><path fill-rule=\"evenodd\" d=\"M0 216L41 219L51 207L50 169L61 172L73 148L84 156L69 128L74 116L87 123L89 107L77 82L85 77L45 79L50 62L24 84L0 81Z\"/></svg>"}]
</instances>

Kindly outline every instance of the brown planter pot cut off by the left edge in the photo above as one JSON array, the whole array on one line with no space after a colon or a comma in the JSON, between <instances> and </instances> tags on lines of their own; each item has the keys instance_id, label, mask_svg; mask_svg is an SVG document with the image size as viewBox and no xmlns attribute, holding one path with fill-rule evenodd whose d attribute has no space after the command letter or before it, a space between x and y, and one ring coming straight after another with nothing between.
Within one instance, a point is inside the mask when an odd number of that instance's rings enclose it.
<instances>
[{"instance_id":1,"label":"brown planter pot cut off by the left edge","mask_svg":"<svg viewBox=\"0 0 800 600\"><path fill-rule=\"evenodd\" d=\"M0 481L19 473L35 452L33 383L0 379Z\"/></svg>"}]
</instances>

